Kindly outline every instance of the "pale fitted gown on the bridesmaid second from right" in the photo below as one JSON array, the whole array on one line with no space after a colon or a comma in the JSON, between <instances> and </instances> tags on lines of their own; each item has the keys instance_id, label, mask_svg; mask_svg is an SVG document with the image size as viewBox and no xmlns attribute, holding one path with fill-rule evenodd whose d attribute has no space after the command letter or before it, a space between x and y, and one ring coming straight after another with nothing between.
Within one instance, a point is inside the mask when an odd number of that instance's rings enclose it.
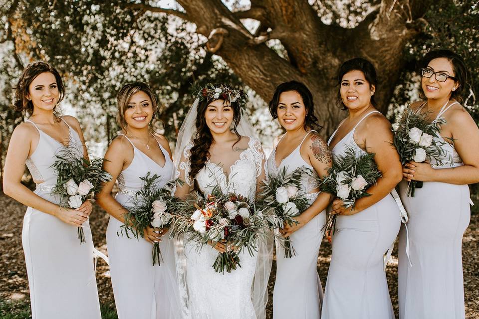
<instances>
[{"instance_id":1,"label":"pale fitted gown on the bridesmaid second from right","mask_svg":"<svg viewBox=\"0 0 479 319\"><path fill-rule=\"evenodd\" d=\"M358 124L331 150L334 156L353 147ZM331 143L337 130L328 141ZM324 293L322 319L393 319L383 256L395 241L401 225L400 211L391 194L350 216L337 216L332 238L331 263Z\"/></svg>"}]
</instances>

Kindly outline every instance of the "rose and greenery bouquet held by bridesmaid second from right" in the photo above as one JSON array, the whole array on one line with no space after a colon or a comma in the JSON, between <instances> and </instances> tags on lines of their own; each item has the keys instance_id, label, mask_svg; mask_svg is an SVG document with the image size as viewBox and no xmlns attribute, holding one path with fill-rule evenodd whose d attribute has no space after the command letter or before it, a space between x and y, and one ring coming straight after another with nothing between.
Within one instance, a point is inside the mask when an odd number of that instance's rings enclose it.
<instances>
[{"instance_id":1,"label":"rose and greenery bouquet held by bridesmaid second from right","mask_svg":"<svg viewBox=\"0 0 479 319\"><path fill-rule=\"evenodd\" d=\"M353 148L346 148L344 155L334 157L333 165L328 169L329 175L324 176L320 185L321 191L334 194L343 200L346 207L354 208L357 199L371 196L366 189L381 177L374 155L367 153L356 157ZM336 216L330 216L324 225L328 240L334 234Z\"/></svg>"}]
</instances>

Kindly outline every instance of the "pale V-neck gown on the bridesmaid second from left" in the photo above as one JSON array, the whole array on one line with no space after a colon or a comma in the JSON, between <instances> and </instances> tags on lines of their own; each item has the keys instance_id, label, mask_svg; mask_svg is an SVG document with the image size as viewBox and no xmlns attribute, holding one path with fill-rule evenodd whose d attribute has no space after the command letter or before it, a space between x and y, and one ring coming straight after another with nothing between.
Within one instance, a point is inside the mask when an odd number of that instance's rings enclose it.
<instances>
[{"instance_id":1,"label":"pale V-neck gown on the bridesmaid second from left","mask_svg":"<svg viewBox=\"0 0 479 319\"><path fill-rule=\"evenodd\" d=\"M124 136L130 141L126 136ZM131 143L131 141L130 141ZM158 143L165 164L158 165L131 143L134 150L130 165L118 176L119 191L115 199L124 207L132 204L136 191L140 190L148 172L161 176L158 187L163 187L174 174L173 162L168 152ZM130 233L128 238L120 234L123 225L110 217L106 242L110 264L111 284L119 319L174 319L180 318L177 300L178 285L173 244L168 233L162 237L160 251L163 261L153 265L153 244L143 238L138 240ZM123 231L124 232L124 231Z\"/></svg>"}]
</instances>

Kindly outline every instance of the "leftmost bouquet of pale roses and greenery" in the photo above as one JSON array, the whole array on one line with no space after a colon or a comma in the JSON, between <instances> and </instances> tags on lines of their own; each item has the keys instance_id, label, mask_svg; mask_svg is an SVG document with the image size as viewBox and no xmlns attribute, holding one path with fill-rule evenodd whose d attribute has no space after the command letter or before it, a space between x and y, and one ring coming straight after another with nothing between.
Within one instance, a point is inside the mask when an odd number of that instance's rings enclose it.
<instances>
[{"instance_id":1,"label":"leftmost bouquet of pale roses and greenery","mask_svg":"<svg viewBox=\"0 0 479 319\"><path fill-rule=\"evenodd\" d=\"M55 155L51 166L58 173L51 193L60 196L60 206L76 209L86 200L93 200L102 184L111 180L110 173L103 170L104 159L87 160L74 147L62 147ZM85 242L82 226L78 227L80 244Z\"/></svg>"}]
</instances>

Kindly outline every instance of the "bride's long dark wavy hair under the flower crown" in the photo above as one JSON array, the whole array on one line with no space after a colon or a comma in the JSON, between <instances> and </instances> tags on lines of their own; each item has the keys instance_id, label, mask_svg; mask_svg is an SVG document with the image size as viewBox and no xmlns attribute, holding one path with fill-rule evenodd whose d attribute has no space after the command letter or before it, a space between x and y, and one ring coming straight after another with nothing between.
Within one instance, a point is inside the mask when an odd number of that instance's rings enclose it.
<instances>
[{"instance_id":1,"label":"bride's long dark wavy hair under the flower crown","mask_svg":"<svg viewBox=\"0 0 479 319\"><path fill-rule=\"evenodd\" d=\"M198 190L195 176L205 166L207 160L210 159L210 147L213 143L213 136L211 135L210 128L206 124L205 112L213 101L217 99L203 100L198 104L197 116L196 116L196 136L193 139L193 147L191 148L190 156L190 177L195 180L195 188ZM225 101L226 103L226 101ZM232 102L230 106L233 108L233 133L238 137L238 143L241 139L240 134L237 131L238 124L241 119L240 104L238 102ZM235 143L235 144L236 144Z\"/></svg>"}]
</instances>

